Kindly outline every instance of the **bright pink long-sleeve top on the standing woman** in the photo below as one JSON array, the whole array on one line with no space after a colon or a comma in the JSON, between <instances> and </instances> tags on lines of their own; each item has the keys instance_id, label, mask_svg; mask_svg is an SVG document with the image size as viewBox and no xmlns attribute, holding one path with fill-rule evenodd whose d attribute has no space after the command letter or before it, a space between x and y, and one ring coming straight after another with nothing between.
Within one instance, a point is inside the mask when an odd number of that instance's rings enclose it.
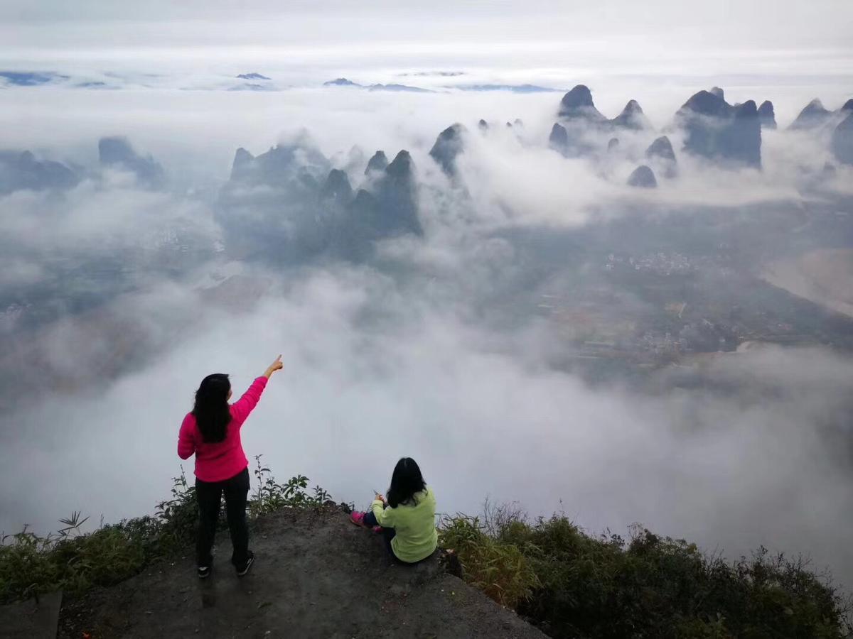
<instances>
[{"instance_id":1,"label":"bright pink long-sleeve top on the standing woman","mask_svg":"<svg viewBox=\"0 0 853 639\"><path fill-rule=\"evenodd\" d=\"M195 476L201 481L223 481L241 473L249 465L240 440L243 422L257 406L266 388L267 378L258 377L243 396L230 406L231 421L225 431L225 439L215 444L206 443L201 437L193 413L187 413L177 436L177 454L189 459L195 453Z\"/></svg>"}]
</instances>

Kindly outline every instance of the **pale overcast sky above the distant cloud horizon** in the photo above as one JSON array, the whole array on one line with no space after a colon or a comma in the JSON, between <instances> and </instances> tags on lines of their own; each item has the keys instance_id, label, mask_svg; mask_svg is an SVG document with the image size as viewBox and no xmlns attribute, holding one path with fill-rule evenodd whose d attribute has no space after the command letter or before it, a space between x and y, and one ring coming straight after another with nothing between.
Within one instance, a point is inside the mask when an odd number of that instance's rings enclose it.
<instances>
[{"instance_id":1,"label":"pale overcast sky above the distant cloud horizon","mask_svg":"<svg viewBox=\"0 0 853 639\"><path fill-rule=\"evenodd\" d=\"M593 72L819 76L848 84L853 77L849 0L414 4L11 0L0 5L0 61L160 72L249 63L454 65L555 80Z\"/></svg>"}]
</instances>

